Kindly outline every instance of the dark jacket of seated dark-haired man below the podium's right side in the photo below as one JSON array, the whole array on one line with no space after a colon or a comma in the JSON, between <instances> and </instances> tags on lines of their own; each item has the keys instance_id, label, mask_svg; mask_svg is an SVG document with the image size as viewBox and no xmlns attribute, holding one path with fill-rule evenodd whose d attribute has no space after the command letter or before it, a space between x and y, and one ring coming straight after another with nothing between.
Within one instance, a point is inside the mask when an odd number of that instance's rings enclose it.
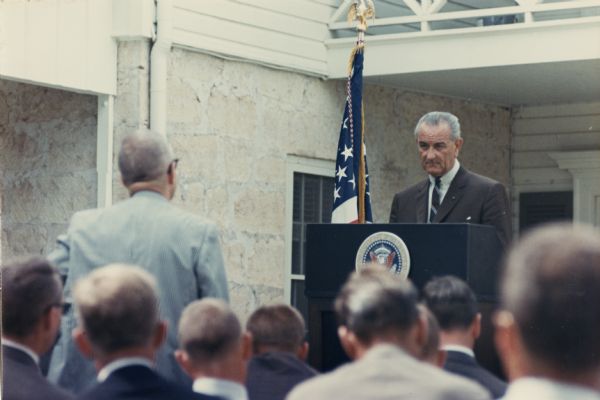
<instances>
[{"instance_id":1,"label":"dark jacket of seated dark-haired man below the podium's right side","mask_svg":"<svg viewBox=\"0 0 600 400\"><path fill-rule=\"evenodd\" d=\"M493 375L477 363L473 357L460 351L448 351L444 369L478 382L494 399L504 396L506 382Z\"/></svg>"}]
</instances>

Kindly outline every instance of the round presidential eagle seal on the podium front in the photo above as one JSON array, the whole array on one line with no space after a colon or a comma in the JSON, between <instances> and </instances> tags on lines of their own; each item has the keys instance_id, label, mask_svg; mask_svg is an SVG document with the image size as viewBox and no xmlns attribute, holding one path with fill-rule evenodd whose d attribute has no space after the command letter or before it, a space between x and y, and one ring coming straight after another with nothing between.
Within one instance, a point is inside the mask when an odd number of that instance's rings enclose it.
<instances>
[{"instance_id":1,"label":"round presidential eagle seal on the podium front","mask_svg":"<svg viewBox=\"0 0 600 400\"><path fill-rule=\"evenodd\" d=\"M356 252L356 270L369 263L386 267L390 273L406 279L410 256L404 241L391 232L377 232L366 238Z\"/></svg>"}]
</instances>

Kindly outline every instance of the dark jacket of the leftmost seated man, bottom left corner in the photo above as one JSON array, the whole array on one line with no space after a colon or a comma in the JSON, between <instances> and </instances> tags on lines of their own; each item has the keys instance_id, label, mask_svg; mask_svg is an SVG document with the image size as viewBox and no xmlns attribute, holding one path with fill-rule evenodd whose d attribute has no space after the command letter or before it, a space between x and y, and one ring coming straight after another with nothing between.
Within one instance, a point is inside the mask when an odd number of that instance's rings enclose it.
<instances>
[{"instance_id":1,"label":"dark jacket of the leftmost seated man, bottom left corner","mask_svg":"<svg viewBox=\"0 0 600 400\"><path fill-rule=\"evenodd\" d=\"M25 352L2 346L2 398L4 400L70 400L75 397L44 378Z\"/></svg>"}]
</instances>

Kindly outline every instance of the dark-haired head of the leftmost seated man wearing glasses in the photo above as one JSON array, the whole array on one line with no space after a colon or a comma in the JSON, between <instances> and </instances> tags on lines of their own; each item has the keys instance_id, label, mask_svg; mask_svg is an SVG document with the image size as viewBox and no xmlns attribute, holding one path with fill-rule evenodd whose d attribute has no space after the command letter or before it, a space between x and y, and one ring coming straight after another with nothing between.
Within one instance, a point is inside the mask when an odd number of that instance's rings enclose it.
<instances>
[{"instance_id":1,"label":"dark-haired head of the leftmost seated man wearing glasses","mask_svg":"<svg viewBox=\"0 0 600 400\"><path fill-rule=\"evenodd\" d=\"M61 303L60 276L47 260L32 258L2 267L3 335L29 335L40 317Z\"/></svg>"}]
</instances>

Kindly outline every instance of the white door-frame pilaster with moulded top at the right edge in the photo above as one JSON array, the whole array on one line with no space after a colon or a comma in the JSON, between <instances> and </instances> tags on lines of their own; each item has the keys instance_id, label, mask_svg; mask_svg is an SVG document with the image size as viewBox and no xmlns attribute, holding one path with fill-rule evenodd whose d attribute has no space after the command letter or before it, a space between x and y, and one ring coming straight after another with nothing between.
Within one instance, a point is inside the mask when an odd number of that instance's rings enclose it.
<instances>
[{"instance_id":1,"label":"white door-frame pilaster with moulded top at the right edge","mask_svg":"<svg viewBox=\"0 0 600 400\"><path fill-rule=\"evenodd\" d=\"M573 175L573 219L600 227L600 151L549 155Z\"/></svg>"}]
</instances>

